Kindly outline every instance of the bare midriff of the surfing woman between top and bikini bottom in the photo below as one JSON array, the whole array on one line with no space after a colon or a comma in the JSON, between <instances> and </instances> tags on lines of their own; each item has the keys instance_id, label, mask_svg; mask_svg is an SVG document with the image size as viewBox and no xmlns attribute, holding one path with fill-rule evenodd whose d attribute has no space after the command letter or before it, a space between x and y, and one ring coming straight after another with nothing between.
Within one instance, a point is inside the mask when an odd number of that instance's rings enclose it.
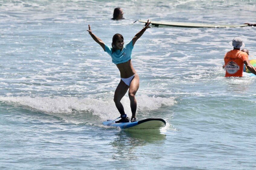
<instances>
[{"instance_id":1,"label":"bare midriff of the surfing woman between top and bikini bottom","mask_svg":"<svg viewBox=\"0 0 256 170\"><path fill-rule=\"evenodd\" d=\"M132 64L131 64L131 60L125 62L125 63L120 63L116 65L118 70L120 71L120 76L121 78L129 78L131 76L133 76L136 71L134 70Z\"/></svg>"}]
</instances>

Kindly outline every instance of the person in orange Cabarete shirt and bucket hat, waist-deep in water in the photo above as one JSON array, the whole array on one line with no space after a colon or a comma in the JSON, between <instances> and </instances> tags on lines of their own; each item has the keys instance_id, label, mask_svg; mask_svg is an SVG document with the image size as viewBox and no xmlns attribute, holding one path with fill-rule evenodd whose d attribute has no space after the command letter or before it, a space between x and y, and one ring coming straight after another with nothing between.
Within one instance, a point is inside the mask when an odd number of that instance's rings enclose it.
<instances>
[{"instance_id":1,"label":"person in orange Cabarete shirt and bucket hat, waist-deep in water","mask_svg":"<svg viewBox=\"0 0 256 170\"><path fill-rule=\"evenodd\" d=\"M242 77L244 64L248 70L251 71L251 73L256 75L255 68L248 60L248 54L246 52L240 51L240 48L245 47L245 43L243 43L242 39L235 37L232 42L229 42L229 45L234 47L234 49L228 51L224 57L226 69L225 77Z\"/></svg>"}]
</instances>

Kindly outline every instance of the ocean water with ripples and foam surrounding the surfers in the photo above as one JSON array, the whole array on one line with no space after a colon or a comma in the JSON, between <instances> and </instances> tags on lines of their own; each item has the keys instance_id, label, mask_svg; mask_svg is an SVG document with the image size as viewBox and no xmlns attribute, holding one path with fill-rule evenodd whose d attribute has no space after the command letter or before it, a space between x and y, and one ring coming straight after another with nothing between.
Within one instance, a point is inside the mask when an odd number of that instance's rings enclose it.
<instances>
[{"instance_id":1,"label":"ocean water with ripples and foam surrounding the surfers","mask_svg":"<svg viewBox=\"0 0 256 170\"><path fill-rule=\"evenodd\" d=\"M125 20L113 21L121 7ZM256 23L254 0L0 0L0 169L255 169L256 77L225 78L228 42L256 55L256 28L147 29L132 63L137 119L160 131L102 125L119 116L120 81L107 45L130 41L134 21ZM252 56L253 57L253 56ZM122 99L131 117L129 99Z\"/></svg>"}]
</instances>

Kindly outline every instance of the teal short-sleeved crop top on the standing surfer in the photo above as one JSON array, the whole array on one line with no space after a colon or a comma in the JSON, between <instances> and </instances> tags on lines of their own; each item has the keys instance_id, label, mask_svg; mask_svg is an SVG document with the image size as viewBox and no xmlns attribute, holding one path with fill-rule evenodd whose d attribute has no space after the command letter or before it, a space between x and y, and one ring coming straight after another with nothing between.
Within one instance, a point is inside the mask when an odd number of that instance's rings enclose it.
<instances>
[{"instance_id":1,"label":"teal short-sleeved crop top on the standing surfer","mask_svg":"<svg viewBox=\"0 0 256 170\"><path fill-rule=\"evenodd\" d=\"M132 46L132 40L124 45L124 48L121 50L116 50L112 54L112 47L105 45L105 52L107 52L111 58L112 63L119 64L119 63L125 63L128 60L131 60L131 51L133 49Z\"/></svg>"}]
</instances>

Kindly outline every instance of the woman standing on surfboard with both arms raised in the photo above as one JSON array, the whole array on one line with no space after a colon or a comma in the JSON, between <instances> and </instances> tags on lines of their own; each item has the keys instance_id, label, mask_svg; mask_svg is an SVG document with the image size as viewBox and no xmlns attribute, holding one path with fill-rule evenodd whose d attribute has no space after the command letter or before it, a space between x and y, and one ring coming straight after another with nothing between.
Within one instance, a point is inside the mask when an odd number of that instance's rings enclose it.
<instances>
[{"instance_id":1,"label":"woman standing on surfboard with both arms raised","mask_svg":"<svg viewBox=\"0 0 256 170\"><path fill-rule=\"evenodd\" d=\"M136 122L135 114L137 110L137 101L135 99L135 94L139 88L139 76L131 64L131 51L135 42L143 35L146 29L151 28L149 26L150 23L151 22L147 20L146 26L143 27L143 29L141 29L141 31L139 31L127 44L124 44L124 38L121 34L115 34L112 38L112 47L107 46L101 39L95 36L92 33L90 24L88 25L89 29L87 29L87 31L91 35L92 39L94 39L94 41L96 41L103 50L111 56L112 63L115 63L120 71L121 80L115 90L114 102L116 108L121 114L121 119L116 121L116 123L129 122L129 118L125 114L124 107L121 103L121 99L124 97L128 89L132 113L131 122Z\"/></svg>"}]
</instances>

